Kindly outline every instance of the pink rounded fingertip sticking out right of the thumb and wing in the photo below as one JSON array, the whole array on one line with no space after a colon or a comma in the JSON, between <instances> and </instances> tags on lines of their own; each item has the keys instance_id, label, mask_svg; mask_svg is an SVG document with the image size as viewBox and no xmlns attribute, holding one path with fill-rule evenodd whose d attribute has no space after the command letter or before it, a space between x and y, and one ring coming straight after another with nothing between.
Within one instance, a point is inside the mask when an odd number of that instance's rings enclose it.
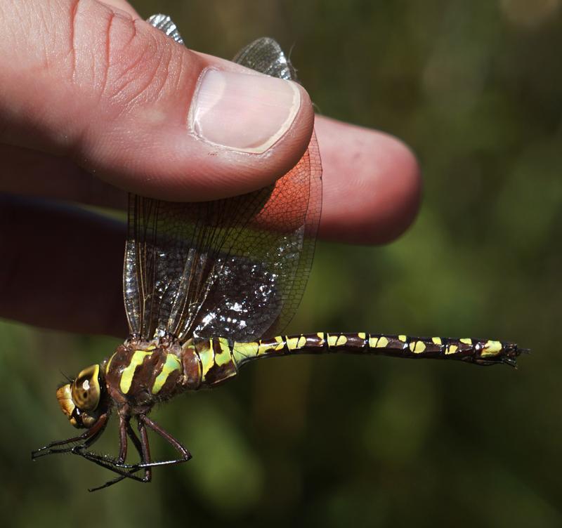
<instances>
[{"instance_id":1,"label":"pink rounded fingertip sticking out right of the thumb and wing","mask_svg":"<svg viewBox=\"0 0 562 528\"><path fill-rule=\"evenodd\" d=\"M416 216L419 166L404 143L388 134L326 117L315 123L323 168L320 237L381 244Z\"/></svg>"}]
</instances>

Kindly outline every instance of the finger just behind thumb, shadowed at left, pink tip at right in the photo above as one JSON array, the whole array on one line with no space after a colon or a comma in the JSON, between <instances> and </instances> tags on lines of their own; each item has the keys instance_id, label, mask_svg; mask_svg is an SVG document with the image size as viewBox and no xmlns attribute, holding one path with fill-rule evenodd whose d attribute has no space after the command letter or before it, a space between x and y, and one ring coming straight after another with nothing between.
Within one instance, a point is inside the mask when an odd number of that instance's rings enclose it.
<instances>
[{"instance_id":1,"label":"finger just behind thumb, shadowed at left, pink tip at right","mask_svg":"<svg viewBox=\"0 0 562 528\"><path fill-rule=\"evenodd\" d=\"M316 118L315 129L324 173L320 237L362 244L398 237L419 205L421 178L412 152L385 133L325 117ZM2 145L0 159L6 174L0 191L126 207L124 192L67 159Z\"/></svg>"}]
</instances>

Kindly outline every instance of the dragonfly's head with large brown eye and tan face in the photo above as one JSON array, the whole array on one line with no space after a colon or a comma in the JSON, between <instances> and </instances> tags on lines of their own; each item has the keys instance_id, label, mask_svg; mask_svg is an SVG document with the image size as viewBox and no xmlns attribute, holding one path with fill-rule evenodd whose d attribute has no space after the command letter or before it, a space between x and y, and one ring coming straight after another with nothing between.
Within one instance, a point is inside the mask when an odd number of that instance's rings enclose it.
<instances>
[{"instance_id":1,"label":"dragonfly's head with large brown eye and tan face","mask_svg":"<svg viewBox=\"0 0 562 528\"><path fill-rule=\"evenodd\" d=\"M91 428L101 414L103 380L100 365L91 365L78 374L72 383L57 390L60 409L75 428Z\"/></svg>"}]
</instances>

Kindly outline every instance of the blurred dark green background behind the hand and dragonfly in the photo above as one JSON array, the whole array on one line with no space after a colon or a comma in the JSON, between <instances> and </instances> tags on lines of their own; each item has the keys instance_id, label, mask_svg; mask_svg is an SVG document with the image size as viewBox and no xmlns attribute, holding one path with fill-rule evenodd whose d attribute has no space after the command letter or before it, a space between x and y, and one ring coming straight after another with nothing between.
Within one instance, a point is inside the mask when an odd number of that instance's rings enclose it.
<instances>
[{"instance_id":1,"label":"blurred dark green background behind the hand and dragonfly","mask_svg":"<svg viewBox=\"0 0 562 528\"><path fill-rule=\"evenodd\" d=\"M89 494L103 470L73 456L32 464L30 451L72 434L54 397L60 369L119 341L2 322L9 525L561 526L561 4L136 1L214 55L275 37L322 113L393 133L419 157L416 223L384 248L319 244L289 331L493 337L532 355L518 370L252 364L155 409L192 461L155 471L150 486ZM115 424L100 444L115 453ZM152 451L171 454L157 438Z\"/></svg>"}]
</instances>

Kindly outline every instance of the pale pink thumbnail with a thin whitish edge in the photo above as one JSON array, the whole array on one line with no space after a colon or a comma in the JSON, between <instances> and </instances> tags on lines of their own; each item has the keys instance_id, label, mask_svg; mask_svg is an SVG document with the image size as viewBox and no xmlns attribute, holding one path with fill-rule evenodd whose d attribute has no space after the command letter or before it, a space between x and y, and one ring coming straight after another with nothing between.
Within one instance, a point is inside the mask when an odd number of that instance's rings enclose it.
<instances>
[{"instance_id":1,"label":"pale pink thumbnail with a thin whitish edge","mask_svg":"<svg viewBox=\"0 0 562 528\"><path fill-rule=\"evenodd\" d=\"M291 81L209 69L195 93L190 124L209 143L259 154L287 132L300 105L301 92Z\"/></svg>"}]
</instances>

